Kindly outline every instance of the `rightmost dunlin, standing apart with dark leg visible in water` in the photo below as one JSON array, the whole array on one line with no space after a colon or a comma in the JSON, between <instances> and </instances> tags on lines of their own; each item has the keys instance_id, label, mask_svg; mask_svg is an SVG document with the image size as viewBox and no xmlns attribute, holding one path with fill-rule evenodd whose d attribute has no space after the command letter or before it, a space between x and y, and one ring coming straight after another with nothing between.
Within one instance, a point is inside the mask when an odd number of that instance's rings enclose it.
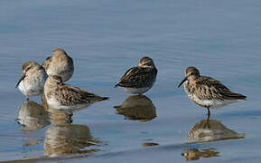
<instances>
[{"instance_id":1,"label":"rightmost dunlin, standing apart with dark leg visible in water","mask_svg":"<svg viewBox=\"0 0 261 163\"><path fill-rule=\"evenodd\" d=\"M200 76L200 72L195 67L186 69L185 78L178 87L182 84L191 101L208 109L208 118L210 118L210 109L247 99L247 96L230 91L218 80Z\"/></svg>"}]
</instances>

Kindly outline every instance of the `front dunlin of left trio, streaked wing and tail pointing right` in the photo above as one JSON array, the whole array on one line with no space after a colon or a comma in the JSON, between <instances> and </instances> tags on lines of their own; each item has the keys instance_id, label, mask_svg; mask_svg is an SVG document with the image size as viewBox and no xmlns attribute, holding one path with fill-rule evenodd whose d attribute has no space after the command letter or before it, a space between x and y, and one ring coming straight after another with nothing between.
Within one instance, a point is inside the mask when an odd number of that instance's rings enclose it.
<instances>
[{"instance_id":1,"label":"front dunlin of left trio, streaked wing and tail pointing right","mask_svg":"<svg viewBox=\"0 0 261 163\"><path fill-rule=\"evenodd\" d=\"M48 105L58 110L74 110L87 107L90 103L107 100L89 91L63 84L61 77L51 75L44 84L44 95Z\"/></svg>"}]
</instances>

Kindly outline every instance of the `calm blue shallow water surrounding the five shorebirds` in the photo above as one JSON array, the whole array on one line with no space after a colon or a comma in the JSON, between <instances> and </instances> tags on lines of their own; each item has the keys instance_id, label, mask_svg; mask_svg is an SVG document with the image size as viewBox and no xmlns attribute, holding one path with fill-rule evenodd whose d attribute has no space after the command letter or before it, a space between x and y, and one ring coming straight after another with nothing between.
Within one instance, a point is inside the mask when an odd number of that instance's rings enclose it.
<instances>
[{"instance_id":1,"label":"calm blue shallow water surrounding the five shorebirds","mask_svg":"<svg viewBox=\"0 0 261 163\"><path fill-rule=\"evenodd\" d=\"M257 0L2 0L0 160L259 162L260 7ZM68 83L110 98L76 111L71 125L63 112L43 110L40 97L24 103L14 89L24 61L42 63L57 47L75 63ZM129 95L114 84L144 55L158 68L154 88L137 102L145 107L115 109ZM176 88L190 65L247 95L212 110L206 139L188 133L207 111Z\"/></svg>"}]
</instances>

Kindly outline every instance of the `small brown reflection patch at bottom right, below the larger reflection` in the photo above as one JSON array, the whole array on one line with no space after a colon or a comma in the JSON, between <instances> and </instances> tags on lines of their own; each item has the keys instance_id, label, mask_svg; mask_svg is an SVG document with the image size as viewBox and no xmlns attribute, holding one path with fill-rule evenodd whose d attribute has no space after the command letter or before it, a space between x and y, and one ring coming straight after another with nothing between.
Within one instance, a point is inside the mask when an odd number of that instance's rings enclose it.
<instances>
[{"instance_id":1,"label":"small brown reflection patch at bottom right, below the larger reflection","mask_svg":"<svg viewBox=\"0 0 261 163\"><path fill-rule=\"evenodd\" d=\"M200 158L219 157L219 152L216 152L214 149L184 149L182 156L186 158L187 161L190 161Z\"/></svg>"}]
</instances>

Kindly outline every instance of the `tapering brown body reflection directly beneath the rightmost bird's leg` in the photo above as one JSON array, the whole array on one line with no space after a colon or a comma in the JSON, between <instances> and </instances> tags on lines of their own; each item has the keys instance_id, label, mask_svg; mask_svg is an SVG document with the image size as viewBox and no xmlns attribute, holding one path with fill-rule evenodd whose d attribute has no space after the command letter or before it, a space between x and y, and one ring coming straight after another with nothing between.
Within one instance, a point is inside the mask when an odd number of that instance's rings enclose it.
<instances>
[{"instance_id":1,"label":"tapering brown body reflection directly beneath the rightmost bird's leg","mask_svg":"<svg viewBox=\"0 0 261 163\"><path fill-rule=\"evenodd\" d=\"M195 139L200 142L242 138L245 138L245 134L228 129L218 120L200 120L188 133L188 139Z\"/></svg>"}]
</instances>

